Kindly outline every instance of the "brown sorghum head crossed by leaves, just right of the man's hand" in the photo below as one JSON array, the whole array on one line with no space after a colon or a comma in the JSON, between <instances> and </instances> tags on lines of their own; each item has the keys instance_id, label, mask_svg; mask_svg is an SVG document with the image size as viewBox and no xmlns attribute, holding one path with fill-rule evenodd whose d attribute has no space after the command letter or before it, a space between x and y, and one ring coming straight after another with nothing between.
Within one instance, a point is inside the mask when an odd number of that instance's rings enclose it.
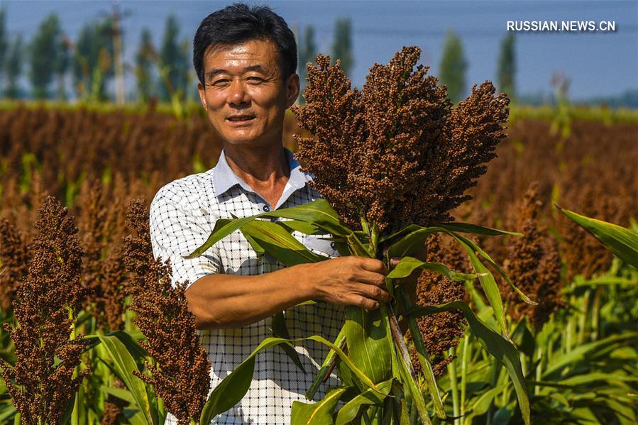
<instances>
[{"instance_id":1,"label":"brown sorghum head crossed by leaves, just right of the man's hand","mask_svg":"<svg viewBox=\"0 0 638 425\"><path fill-rule=\"evenodd\" d=\"M454 270L468 269L467 260L463 258L461 250L456 245L444 243L441 236L430 236L426 246L428 262L444 263L453 267ZM463 300L465 295L463 282L454 282L449 277L427 270L419 276L417 284L419 306L436 306ZM458 346L458 339L463 336L467 324L466 319L463 318L461 311L453 310L424 316L418 320L418 323L423 342L431 356L430 362L434 375L441 376L445 373L448 363L453 360L447 353L450 348ZM415 352L412 353L412 363L415 369L419 369L419 360Z\"/></svg>"}]
</instances>

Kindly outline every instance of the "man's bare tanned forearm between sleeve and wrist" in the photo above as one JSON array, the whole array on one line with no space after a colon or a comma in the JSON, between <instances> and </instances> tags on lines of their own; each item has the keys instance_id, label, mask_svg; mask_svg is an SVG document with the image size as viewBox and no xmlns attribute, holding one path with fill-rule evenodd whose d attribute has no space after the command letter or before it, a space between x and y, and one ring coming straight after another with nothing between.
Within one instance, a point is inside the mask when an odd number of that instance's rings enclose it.
<instances>
[{"instance_id":1,"label":"man's bare tanned forearm between sleeve and wrist","mask_svg":"<svg viewBox=\"0 0 638 425\"><path fill-rule=\"evenodd\" d=\"M306 265L263 275L207 275L186 291L197 329L232 329L255 323L307 301Z\"/></svg>"}]
</instances>

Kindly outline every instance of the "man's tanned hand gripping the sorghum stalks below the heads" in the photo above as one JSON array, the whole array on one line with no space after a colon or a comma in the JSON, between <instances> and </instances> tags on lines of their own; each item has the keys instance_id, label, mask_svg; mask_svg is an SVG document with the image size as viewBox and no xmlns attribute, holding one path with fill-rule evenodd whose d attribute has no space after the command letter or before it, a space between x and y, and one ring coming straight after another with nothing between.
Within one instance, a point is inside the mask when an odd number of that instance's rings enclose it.
<instances>
[{"instance_id":1,"label":"man's tanned hand gripping the sorghum stalks below the heads","mask_svg":"<svg viewBox=\"0 0 638 425\"><path fill-rule=\"evenodd\" d=\"M368 310L390 301L385 287L388 270L380 260L348 255L308 264L305 271L312 299Z\"/></svg>"}]
</instances>

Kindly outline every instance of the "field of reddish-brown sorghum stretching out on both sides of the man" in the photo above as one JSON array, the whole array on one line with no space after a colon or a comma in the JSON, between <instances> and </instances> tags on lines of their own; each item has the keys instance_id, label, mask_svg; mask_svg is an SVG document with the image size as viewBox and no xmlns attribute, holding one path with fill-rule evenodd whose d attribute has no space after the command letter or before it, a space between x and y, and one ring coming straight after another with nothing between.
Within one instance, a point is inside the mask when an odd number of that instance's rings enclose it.
<instances>
[{"instance_id":1,"label":"field of reddish-brown sorghum stretching out on both sides of the man","mask_svg":"<svg viewBox=\"0 0 638 425\"><path fill-rule=\"evenodd\" d=\"M291 114L284 142L295 150L292 133L308 136ZM199 417L206 355L183 287L170 289L167 266L153 259L148 204L163 184L214 166L220 149L196 111L2 107L0 423ZM453 216L524 234L476 242L538 303L494 273L532 423L638 423L638 271L554 207L638 231L636 114L512 106L497 155ZM470 273L448 245L429 238L428 261ZM472 281L424 271L418 297L422 306L464 300L498 329ZM522 423L505 368L462 314L418 323L451 421ZM119 358L117 346L134 354Z\"/></svg>"}]
</instances>

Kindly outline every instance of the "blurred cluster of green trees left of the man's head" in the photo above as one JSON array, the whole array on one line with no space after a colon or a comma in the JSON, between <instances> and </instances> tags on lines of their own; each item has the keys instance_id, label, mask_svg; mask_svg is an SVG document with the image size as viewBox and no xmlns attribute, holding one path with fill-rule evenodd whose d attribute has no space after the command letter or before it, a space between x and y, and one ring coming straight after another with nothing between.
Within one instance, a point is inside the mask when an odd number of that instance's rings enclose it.
<instances>
[{"instance_id":1,"label":"blurred cluster of green trees left of the man's head","mask_svg":"<svg viewBox=\"0 0 638 425\"><path fill-rule=\"evenodd\" d=\"M9 38L6 9L0 9L0 92L18 99L68 100L70 93L89 101L116 100L123 103L124 72L135 76L138 101L156 96L162 101L184 100L192 87L190 41L180 35L180 25L169 15L160 45L153 43L148 28L141 29L134 63L123 63L121 13L114 8L106 18L84 23L75 40L62 29L60 18L51 13L28 44L21 34ZM25 75L31 86L26 92L19 79ZM67 81L72 82L69 90ZM115 96L109 84L115 80ZM121 88L120 88L121 87Z\"/></svg>"}]
</instances>

